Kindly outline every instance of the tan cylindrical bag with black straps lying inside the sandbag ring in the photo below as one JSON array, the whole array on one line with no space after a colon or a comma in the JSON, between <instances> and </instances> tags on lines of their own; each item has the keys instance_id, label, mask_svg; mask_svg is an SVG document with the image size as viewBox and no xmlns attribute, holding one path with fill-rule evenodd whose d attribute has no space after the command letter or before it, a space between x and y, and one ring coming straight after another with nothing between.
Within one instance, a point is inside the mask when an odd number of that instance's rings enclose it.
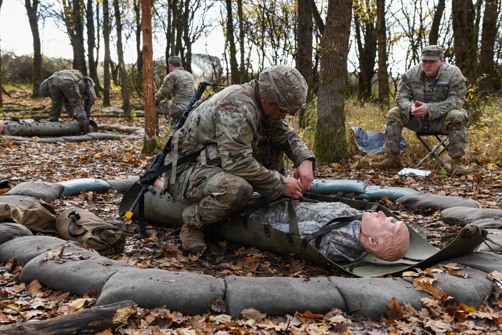
<instances>
[{"instance_id":1,"label":"tan cylindrical bag with black straps lying inside the sandbag ring","mask_svg":"<svg viewBox=\"0 0 502 335\"><path fill-rule=\"evenodd\" d=\"M56 228L61 238L77 241L82 247L94 249L101 255L119 254L126 244L122 230L83 208L71 207L61 212Z\"/></svg>"}]
</instances>

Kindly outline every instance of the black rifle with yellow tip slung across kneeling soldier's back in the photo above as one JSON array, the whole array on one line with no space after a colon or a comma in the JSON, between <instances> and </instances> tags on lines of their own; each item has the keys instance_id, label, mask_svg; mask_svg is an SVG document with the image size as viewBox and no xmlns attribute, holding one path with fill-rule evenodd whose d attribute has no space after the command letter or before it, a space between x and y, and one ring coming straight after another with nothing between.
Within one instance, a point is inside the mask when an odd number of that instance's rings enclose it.
<instances>
[{"instance_id":1,"label":"black rifle with yellow tip slung across kneeling soldier's back","mask_svg":"<svg viewBox=\"0 0 502 335\"><path fill-rule=\"evenodd\" d=\"M188 115L194 108L194 104L199 101L200 97L202 96L202 93L204 93L204 90L206 89L207 86L227 86L227 85L220 85L220 84L212 84L208 83L206 81L202 81L199 84L199 87L197 87L197 91L195 92L194 96L188 103L187 108L185 109L183 115L181 116L180 120L178 121L178 124L173 129L173 132L171 133L171 136L169 136L169 139L166 142L166 145L164 146L164 149L157 154L155 159L153 160L152 164L150 165L150 168L145 171L145 173L141 176L140 178L140 191L138 192L138 196L136 197L136 200L134 200L133 204L129 208L129 210L123 215L124 220L129 220L133 216L133 211L136 208L138 204L140 204L138 208L138 216L139 216L139 226L140 226L140 234L142 236L147 236L147 230L146 230L146 225L145 225L145 193L150 191L152 192L153 195L155 195L157 192L155 191L153 184L155 183L155 180L157 179L158 176L163 174L164 172L167 172L171 170L172 168L172 163L164 166L164 159L166 156L169 154L171 151L171 142L173 141L174 136L178 132L181 127L185 124L186 119L188 118ZM200 151L196 151L190 155L184 156L180 158L177 162L178 166L181 164L184 164L186 162L189 162L190 160L197 158L199 156Z\"/></svg>"}]
</instances>

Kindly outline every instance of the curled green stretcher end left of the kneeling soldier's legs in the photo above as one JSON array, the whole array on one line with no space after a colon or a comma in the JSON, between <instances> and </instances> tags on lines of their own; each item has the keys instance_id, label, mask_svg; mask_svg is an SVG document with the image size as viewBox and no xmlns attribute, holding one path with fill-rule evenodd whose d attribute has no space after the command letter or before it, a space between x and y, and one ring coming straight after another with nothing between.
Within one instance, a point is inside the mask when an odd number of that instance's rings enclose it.
<instances>
[{"instance_id":1,"label":"curled green stretcher end left of the kneeling soldier's legs","mask_svg":"<svg viewBox=\"0 0 502 335\"><path fill-rule=\"evenodd\" d=\"M186 207L178 201L175 201L169 194L163 194L161 187L154 187L156 194L152 192L145 193L145 221L149 224L167 226L167 227L181 227L183 226L183 209ZM118 207L118 214L123 216L133 205L138 197L140 191L140 184L135 183L123 195L120 206ZM133 219L138 219L139 204L133 210Z\"/></svg>"}]
</instances>

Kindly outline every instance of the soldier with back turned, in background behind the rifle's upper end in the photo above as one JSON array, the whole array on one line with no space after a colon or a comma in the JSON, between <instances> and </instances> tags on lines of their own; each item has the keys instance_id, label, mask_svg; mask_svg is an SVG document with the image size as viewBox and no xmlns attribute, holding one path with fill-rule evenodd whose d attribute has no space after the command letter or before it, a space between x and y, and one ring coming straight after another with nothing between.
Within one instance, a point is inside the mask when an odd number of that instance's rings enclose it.
<instances>
[{"instance_id":1,"label":"soldier with back turned, in background behind the rifle's upper end","mask_svg":"<svg viewBox=\"0 0 502 335\"><path fill-rule=\"evenodd\" d=\"M157 114L168 115L175 122L185 111L195 93L193 75L181 66L181 58L168 59L169 74L164 78L161 88L155 93ZM171 100L164 100L171 94Z\"/></svg>"}]
</instances>

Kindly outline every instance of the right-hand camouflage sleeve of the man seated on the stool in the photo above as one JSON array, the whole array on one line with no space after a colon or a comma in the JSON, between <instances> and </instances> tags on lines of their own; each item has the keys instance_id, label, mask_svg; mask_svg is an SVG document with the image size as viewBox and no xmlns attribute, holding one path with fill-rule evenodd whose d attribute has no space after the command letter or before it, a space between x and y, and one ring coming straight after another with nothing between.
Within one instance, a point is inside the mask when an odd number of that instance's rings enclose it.
<instances>
[{"instance_id":1,"label":"right-hand camouflage sleeve of the man seated on the stool","mask_svg":"<svg viewBox=\"0 0 502 335\"><path fill-rule=\"evenodd\" d=\"M467 95L467 85L465 84L465 77L460 73L460 70L456 70L450 80L447 98L443 101L427 104L430 120L440 119L448 111L463 107L465 96Z\"/></svg>"}]
</instances>

